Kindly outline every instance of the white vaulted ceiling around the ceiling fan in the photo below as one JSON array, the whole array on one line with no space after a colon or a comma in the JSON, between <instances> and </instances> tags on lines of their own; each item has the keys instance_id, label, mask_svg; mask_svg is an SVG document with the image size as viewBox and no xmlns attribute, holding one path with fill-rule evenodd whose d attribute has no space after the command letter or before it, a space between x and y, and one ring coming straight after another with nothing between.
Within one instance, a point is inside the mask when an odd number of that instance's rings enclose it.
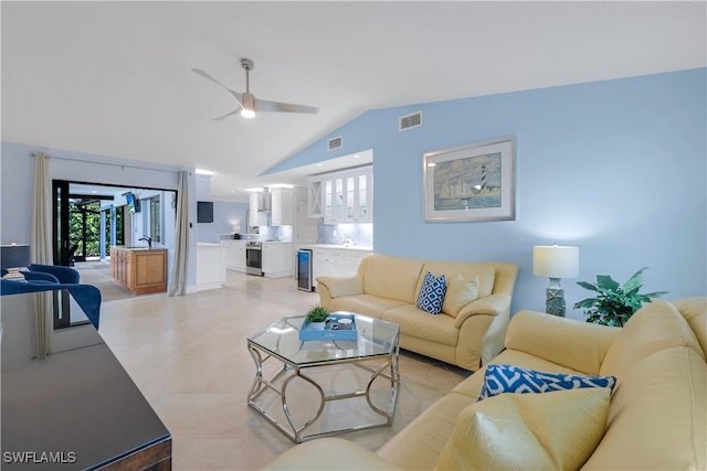
<instances>
[{"instance_id":1,"label":"white vaulted ceiling around the ceiling fan","mask_svg":"<svg viewBox=\"0 0 707 471\"><path fill-rule=\"evenodd\" d=\"M705 2L1 3L2 140L258 176L369 109L706 65ZM317 115L231 116L192 73Z\"/></svg>"}]
</instances>

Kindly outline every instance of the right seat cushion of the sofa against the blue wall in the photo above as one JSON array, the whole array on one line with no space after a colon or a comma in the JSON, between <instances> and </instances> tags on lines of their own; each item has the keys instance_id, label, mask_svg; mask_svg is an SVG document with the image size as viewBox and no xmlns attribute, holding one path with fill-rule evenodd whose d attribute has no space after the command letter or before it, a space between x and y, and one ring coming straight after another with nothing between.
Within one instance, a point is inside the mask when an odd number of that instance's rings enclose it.
<instances>
[{"instance_id":1,"label":"right seat cushion of the sofa against the blue wall","mask_svg":"<svg viewBox=\"0 0 707 471\"><path fill-rule=\"evenodd\" d=\"M405 304L383 312L382 320L400 325L400 334L424 339L443 345L456 346L460 330L447 314L430 315L414 306Z\"/></svg>"}]
</instances>

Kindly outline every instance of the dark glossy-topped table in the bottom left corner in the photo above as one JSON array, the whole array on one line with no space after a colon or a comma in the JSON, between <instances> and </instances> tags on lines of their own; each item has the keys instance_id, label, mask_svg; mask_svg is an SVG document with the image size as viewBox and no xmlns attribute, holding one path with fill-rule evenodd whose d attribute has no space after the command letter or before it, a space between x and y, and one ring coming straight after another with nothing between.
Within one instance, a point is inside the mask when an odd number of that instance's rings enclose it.
<instances>
[{"instance_id":1,"label":"dark glossy-topped table in the bottom left corner","mask_svg":"<svg viewBox=\"0 0 707 471\"><path fill-rule=\"evenodd\" d=\"M92 324L50 319L32 358L33 296L0 298L2 470L170 470L169 431Z\"/></svg>"}]
</instances>

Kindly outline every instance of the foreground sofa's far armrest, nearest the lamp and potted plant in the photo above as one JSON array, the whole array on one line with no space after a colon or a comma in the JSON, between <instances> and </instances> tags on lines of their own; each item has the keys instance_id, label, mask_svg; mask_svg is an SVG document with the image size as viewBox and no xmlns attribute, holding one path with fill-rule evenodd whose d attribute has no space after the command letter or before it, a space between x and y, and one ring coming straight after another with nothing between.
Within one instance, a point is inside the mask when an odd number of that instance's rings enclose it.
<instances>
[{"instance_id":1,"label":"foreground sofa's far armrest, nearest the lamp and potted plant","mask_svg":"<svg viewBox=\"0 0 707 471\"><path fill-rule=\"evenodd\" d=\"M584 373L599 374L621 328L591 324L536 311L518 311L508 324L506 349Z\"/></svg>"}]
</instances>

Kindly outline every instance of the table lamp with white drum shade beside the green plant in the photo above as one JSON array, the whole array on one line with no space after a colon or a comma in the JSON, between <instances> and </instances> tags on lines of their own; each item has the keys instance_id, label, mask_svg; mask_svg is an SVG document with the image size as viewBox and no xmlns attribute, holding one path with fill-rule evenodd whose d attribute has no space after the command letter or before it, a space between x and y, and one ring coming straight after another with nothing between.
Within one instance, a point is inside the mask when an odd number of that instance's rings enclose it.
<instances>
[{"instance_id":1,"label":"table lamp with white drum shade beside the green plant","mask_svg":"<svg viewBox=\"0 0 707 471\"><path fill-rule=\"evenodd\" d=\"M532 275L550 278L545 312L564 317L564 290L560 287L560 279L579 276L579 247L557 244L532 247Z\"/></svg>"}]
</instances>

